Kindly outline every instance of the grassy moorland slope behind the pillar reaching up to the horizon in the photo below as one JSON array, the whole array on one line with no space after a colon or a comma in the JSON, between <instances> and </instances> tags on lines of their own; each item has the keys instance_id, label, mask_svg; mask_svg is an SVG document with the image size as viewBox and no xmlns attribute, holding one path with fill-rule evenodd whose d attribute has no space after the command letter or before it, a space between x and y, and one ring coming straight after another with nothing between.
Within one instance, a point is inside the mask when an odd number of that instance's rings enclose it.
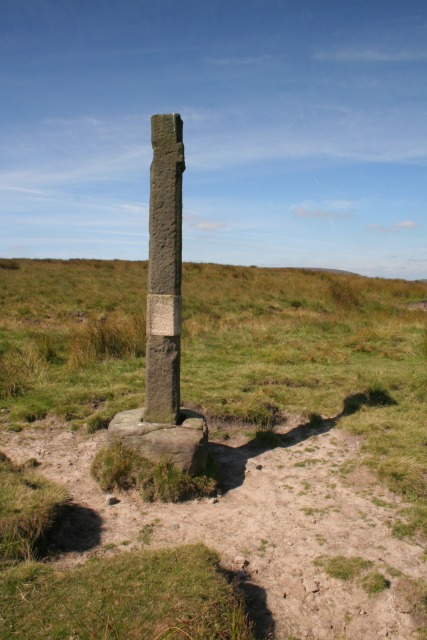
<instances>
[{"instance_id":1,"label":"grassy moorland slope behind the pillar reaching up to the horizon","mask_svg":"<svg viewBox=\"0 0 427 640\"><path fill-rule=\"evenodd\" d=\"M94 429L143 404L146 276L142 262L1 262L5 425L53 413ZM427 532L427 325L407 308L422 299L426 283L186 264L183 401L264 428L356 403L337 424Z\"/></svg>"}]
</instances>

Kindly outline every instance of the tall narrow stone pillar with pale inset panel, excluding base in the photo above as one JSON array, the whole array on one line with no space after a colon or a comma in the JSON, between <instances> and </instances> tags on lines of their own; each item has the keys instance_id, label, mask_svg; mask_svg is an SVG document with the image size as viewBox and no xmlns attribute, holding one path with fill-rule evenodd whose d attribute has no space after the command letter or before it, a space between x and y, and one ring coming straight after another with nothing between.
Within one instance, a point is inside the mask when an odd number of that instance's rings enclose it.
<instances>
[{"instance_id":1,"label":"tall narrow stone pillar with pale inset panel, excluding base","mask_svg":"<svg viewBox=\"0 0 427 640\"><path fill-rule=\"evenodd\" d=\"M150 250L144 421L177 424L180 414L183 123L151 118Z\"/></svg>"}]
</instances>

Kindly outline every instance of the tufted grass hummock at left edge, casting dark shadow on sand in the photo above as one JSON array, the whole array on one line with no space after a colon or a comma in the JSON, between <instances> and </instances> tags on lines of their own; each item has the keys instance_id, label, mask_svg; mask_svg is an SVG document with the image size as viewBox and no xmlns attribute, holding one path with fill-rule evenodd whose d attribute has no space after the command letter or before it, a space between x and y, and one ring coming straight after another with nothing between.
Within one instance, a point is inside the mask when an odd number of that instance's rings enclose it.
<instances>
[{"instance_id":1,"label":"tufted grass hummock at left edge, casting dark shadow on sand","mask_svg":"<svg viewBox=\"0 0 427 640\"><path fill-rule=\"evenodd\" d=\"M0 559L31 558L67 500L64 488L46 480L34 459L13 464L0 452Z\"/></svg>"}]
</instances>

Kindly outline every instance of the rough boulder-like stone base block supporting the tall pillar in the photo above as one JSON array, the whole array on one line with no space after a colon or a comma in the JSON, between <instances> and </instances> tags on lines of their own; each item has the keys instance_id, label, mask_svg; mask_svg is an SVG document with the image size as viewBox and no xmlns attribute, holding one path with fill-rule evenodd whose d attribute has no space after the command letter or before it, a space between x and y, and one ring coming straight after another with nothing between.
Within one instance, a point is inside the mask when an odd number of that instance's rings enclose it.
<instances>
[{"instance_id":1,"label":"rough boulder-like stone base block supporting the tall pillar","mask_svg":"<svg viewBox=\"0 0 427 640\"><path fill-rule=\"evenodd\" d=\"M108 427L108 443L121 442L152 462L168 460L196 475L206 468L208 427L205 418L181 408L180 424L144 422L144 408L117 413Z\"/></svg>"}]
</instances>

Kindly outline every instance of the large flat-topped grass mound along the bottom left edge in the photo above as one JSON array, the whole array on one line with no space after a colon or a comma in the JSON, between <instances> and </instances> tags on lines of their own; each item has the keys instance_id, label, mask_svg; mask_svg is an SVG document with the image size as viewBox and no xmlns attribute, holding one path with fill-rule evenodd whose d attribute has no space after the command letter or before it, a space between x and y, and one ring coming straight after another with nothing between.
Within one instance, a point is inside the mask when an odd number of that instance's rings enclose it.
<instances>
[{"instance_id":1,"label":"large flat-topped grass mound along the bottom left edge","mask_svg":"<svg viewBox=\"0 0 427 640\"><path fill-rule=\"evenodd\" d=\"M2 573L3 640L251 640L241 601L203 545L122 552L70 570Z\"/></svg>"}]
</instances>

